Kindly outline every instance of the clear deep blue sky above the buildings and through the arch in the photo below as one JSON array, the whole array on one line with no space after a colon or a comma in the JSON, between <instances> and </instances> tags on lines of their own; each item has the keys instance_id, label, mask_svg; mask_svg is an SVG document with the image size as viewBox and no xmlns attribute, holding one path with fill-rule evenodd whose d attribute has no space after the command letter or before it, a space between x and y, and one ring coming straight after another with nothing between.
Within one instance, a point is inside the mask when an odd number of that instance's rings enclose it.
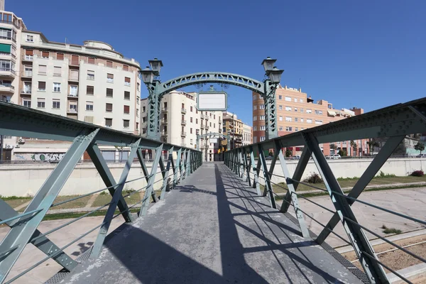
<instances>
[{"instance_id":1,"label":"clear deep blue sky above the buildings and through the arch","mask_svg":"<svg viewBox=\"0 0 426 284\"><path fill-rule=\"evenodd\" d=\"M282 84L300 80L336 108L426 97L426 1L6 0L6 11L49 40L102 40L143 66L160 58L163 81L202 71L262 80L271 56ZM227 92L229 111L251 124L251 92Z\"/></svg>"}]
</instances>

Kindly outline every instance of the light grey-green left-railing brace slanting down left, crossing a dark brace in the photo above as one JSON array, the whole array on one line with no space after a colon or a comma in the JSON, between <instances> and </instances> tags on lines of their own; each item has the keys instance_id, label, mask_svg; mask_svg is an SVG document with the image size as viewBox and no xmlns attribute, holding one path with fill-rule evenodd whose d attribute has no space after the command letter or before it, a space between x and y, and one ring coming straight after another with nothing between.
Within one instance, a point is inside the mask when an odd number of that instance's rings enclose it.
<instances>
[{"instance_id":1,"label":"light grey-green left-railing brace slanting down left, crossing a dark brace","mask_svg":"<svg viewBox=\"0 0 426 284\"><path fill-rule=\"evenodd\" d=\"M136 153L138 152L138 144L139 141L136 141L135 146L131 148L129 158L127 158L123 172L121 172L119 183L115 189L114 195L112 195L111 204L109 204L107 214L105 214L104 222L102 222L102 226L99 229L96 241L94 241L92 251L90 252L90 258L97 258L97 256L99 256L99 253L101 253L102 245L104 244L105 238L107 237L109 225L111 225L111 220L112 217L114 217L114 212L116 210L117 204L119 203L119 200L123 198L121 192L123 191L127 176L129 175L133 159L136 158ZM129 212L129 208L127 209L127 212Z\"/></svg>"}]
</instances>

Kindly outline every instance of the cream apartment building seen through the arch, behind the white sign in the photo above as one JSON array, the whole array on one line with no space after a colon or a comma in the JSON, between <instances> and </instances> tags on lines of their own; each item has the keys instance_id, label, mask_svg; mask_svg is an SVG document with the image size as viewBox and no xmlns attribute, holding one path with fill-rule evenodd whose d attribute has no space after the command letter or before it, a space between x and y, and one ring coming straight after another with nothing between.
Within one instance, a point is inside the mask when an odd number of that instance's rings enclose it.
<instances>
[{"instance_id":1,"label":"cream apartment building seen through the arch, behind the white sign","mask_svg":"<svg viewBox=\"0 0 426 284\"><path fill-rule=\"evenodd\" d=\"M148 127L148 99L141 100L142 136L146 137ZM198 111L197 93L172 91L161 100L160 135L161 141L197 148L197 131L222 133L221 111ZM200 150L204 160L214 160L219 149L219 139L211 142L209 138L200 139Z\"/></svg>"}]
</instances>

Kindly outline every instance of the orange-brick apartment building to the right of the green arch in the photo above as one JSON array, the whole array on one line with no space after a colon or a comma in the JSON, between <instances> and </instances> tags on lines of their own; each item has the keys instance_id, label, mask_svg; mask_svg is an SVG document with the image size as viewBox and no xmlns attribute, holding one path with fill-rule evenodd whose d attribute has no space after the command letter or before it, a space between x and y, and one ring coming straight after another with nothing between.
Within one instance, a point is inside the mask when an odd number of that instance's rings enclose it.
<instances>
[{"instance_id":1,"label":"orange-brick apartment building to the right of the green arch","mask_svg":"<svg viewBox=\"0 0 426 284\"><path fill-rule=\"evenodd\" d=\"M363 114L363 109L334 109L333 104L320 99L315 102L301 89L279 86L275 91L277 104L278 135L302 131L310 127L328 124L347 117ZM259 94L253 92L253 143L264 141L265 136L265 104ZM321 144L324 155L346 151L347 155L366 155L368 139L359 141L340 141ZM354 144L356 143L356 145ZM290 148L293 155L300 154L302 147Z\"/></svg>"}]
</instances>

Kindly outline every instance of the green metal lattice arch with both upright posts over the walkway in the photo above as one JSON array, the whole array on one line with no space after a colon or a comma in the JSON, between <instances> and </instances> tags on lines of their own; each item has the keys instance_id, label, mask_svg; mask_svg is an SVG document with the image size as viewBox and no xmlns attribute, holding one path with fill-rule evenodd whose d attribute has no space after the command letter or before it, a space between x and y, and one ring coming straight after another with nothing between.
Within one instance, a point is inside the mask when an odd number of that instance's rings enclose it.
<instances>
[{"instance_id":1,"label":"green metal lattice arch with both upright posts over the walkway","mask_svg":"<svg viewBox=\"0 0 426 284\"><path fill-rule=\"evenodd\" d=\"M147 84L148 89L148 138L160 140L160 103L165 94L175 89L195 84L233 84L256 92L265 101L266 138L278 136L275 89L279 83L266 79L263 82L243 75L226 72L200 72L160 82L154 80Z\"/></svg>"}]
</instances>

